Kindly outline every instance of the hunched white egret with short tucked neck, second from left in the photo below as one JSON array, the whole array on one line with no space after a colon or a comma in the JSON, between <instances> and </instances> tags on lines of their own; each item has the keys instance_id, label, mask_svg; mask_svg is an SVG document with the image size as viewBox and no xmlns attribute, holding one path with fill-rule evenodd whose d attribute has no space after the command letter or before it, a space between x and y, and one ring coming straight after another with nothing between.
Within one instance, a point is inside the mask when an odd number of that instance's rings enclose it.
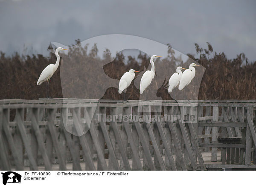
<instances>
[{"instance_id":1,"label":"hunched white egret with short tucked neck, second from left","mask_svg":"<svg viewBox=\"0 0 256 186\"><path fill-rule=\"evenodd\" d=\"M135 77L135 72L139 73L140 71L131 69L128 72L124 73L124 75L122 75L119 81L119 89L118 89L119 94L121 94L126 88L130 86L131 81ZM125 92L124 92L124 100L125 100Z\"/></svg>"}]
</instances>

